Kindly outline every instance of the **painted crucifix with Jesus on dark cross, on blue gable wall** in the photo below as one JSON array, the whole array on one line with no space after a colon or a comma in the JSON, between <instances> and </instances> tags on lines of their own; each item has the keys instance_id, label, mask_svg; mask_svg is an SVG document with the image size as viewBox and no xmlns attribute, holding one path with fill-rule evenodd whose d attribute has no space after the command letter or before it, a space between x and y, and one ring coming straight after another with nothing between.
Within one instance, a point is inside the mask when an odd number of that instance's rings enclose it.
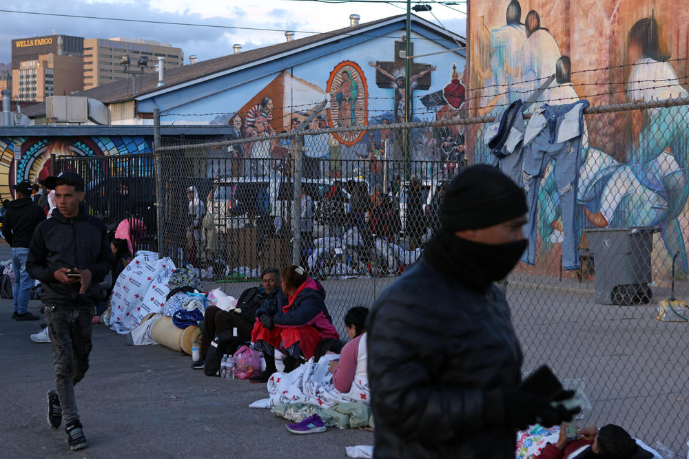
<instances>
[{"instance_id":1,"label":"painted crucifix with Jesus on dark cross, on blue gable wall","mask_svg":"<svg viewBox=\"0 0 689 459\"><path fill-rule=\"evenodd\" d=\"M406 47L407 43L404 41L395 41L394 61L369 62L369 65L377 70L376 85L395 90L395 122L404 122L404 85L407 82L404 78L404 63L406 59L402 56L404 56ZM413 43L411 43L411 55L414 55ZM409 83L411 84L412 95L415 89L427 90L431 87L431 72L435 68L435 65L411 62ZM413 102L411 109L413 110Z\"/></svg>"}]
</instances>

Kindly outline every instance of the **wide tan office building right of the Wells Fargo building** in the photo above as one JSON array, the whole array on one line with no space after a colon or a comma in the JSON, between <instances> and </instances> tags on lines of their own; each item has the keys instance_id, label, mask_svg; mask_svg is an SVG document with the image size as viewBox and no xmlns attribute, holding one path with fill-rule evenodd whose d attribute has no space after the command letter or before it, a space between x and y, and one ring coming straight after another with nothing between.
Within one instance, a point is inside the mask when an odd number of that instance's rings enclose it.
<instances>
[{"instance_id":1,"label":"wide tan office building right of the Wells Fargo building","mask_svg":"<svg viewBox=\"0 0 689 459\"><path fill-rule=\"evenodd\" d=\"M156 72L154 67L158 63L158 56L165 58L164 70L181 67L184 64L184 53L178 47L168 43L141 39L86 39L84 40L84 89L112 83L123 78L132 78L125 74L124 65L120 64L123 54L130 58L130 70L138 69L141 56L146 56L148 62L144 72Z\"/></svg>"}]
</instances>

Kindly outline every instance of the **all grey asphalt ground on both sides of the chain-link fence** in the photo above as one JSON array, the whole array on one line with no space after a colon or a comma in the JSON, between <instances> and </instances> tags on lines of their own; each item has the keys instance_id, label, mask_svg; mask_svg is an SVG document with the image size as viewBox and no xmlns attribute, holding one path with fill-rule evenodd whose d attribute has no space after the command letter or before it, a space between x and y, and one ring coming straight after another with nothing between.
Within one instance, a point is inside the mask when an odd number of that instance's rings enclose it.
<instances>
[{"instance_id":1,"label":"all grey asphalt ground on both sides of the chain-link fence","mask_svg":"<svg viewBox=\"0 0 689 459\"><path fill-rule=\"evenodd\" d=\"M8 258L0 243L0 259ZM389 281L325 281L336 323L341 325L347 308L370 306ZM222 286L233 295L245 287ZM508 287L524 372L547 363L566 385L582 389L593 410L577 421L579 427L616 423L685 457L687 325L652 318L653 305L668 294L657 289L650 305L619 307L595 304L592 283L514 276ZM38 301L30 304L34 313L39 307ZM38 323L12 321L11 310L11 300L0 300L0 429L9 440L3 457L73 457L64 431L51 430L45 420L45 392L54 381L50 345L29 341ZM94 325L93 341L91 368L76 389L90 445L80 457L265 458L279 451L330 458L344 457L346 446L373 442L363 430L291 435L285 420L249 409L266 396L264 385L206 377L189 368L189 356L157 345L129 346L102 325Z\"/></svg>"}]
</instances>

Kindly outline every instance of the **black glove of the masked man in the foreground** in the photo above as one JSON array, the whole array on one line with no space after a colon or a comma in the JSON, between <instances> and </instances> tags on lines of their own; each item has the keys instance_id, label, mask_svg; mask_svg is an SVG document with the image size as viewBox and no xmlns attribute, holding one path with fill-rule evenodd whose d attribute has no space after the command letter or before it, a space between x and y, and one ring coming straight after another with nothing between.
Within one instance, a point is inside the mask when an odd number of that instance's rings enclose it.
<instances>
[{"instance_id":1,"label":"black glove of the masked man in the foreground","mask_svg":"<svg viewBox=\"0 0 689 459\"><path fill-rule=\"evenodd\" d=\"M569 392L569 396L567 396ZM573 392L563 392L564 397L570 398ZM517 429L526 429L529 425L538 423L543 427L552 427L572 420L579 409L570 411L563 406L551 407L551 401L517 387L502 389L502 404L505 414L505 424Z\"/></svg>"}]
</instances>

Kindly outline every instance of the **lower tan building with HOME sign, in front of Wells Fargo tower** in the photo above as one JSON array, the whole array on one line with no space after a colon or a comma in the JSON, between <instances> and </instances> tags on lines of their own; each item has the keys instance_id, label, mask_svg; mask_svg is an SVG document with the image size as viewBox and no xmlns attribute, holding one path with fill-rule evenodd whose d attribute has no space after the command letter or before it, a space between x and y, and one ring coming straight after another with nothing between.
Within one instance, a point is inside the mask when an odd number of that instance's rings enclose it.
<instances>
[{"instance_id":1,"label":"lower tan building with HOME sign, in front of Wells Fargo tower","mask_svg":"<svg viewBox=\"0 0 689 459\"><path fill-rule=\"evenodd\" d=\"M14 65L14 61L12 61ZM12 98L42 102L48 96L69 96L83 89L83 58L41 54L12 70Z\"/></svg>"}]
</instances>

